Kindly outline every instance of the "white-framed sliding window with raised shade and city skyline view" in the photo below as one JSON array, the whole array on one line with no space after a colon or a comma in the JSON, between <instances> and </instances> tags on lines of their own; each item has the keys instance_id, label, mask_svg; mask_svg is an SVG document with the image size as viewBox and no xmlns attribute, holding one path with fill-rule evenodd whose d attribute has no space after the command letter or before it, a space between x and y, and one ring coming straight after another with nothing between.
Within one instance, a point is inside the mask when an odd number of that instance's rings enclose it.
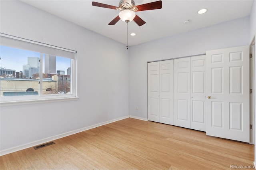
<instances>
[{"instance_id":1,"label":"white-framed sliding window with raised shade and city skyline view","mask_svg":"<svg viewBox=\"0 0 256 170\"><path fill-rule=\"evenodd\" d=\"M0 99L31 101L76 95L76 51L0 33Z\"/></svg>"}]
</instances>

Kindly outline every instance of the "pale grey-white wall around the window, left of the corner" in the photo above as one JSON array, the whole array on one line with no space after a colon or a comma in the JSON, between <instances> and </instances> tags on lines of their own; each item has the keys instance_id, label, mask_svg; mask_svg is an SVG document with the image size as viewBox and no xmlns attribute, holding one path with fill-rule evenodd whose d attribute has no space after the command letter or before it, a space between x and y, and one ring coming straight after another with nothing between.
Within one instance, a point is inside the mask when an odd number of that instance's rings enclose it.
<instances>
[{"instance_id":1,"label":"pale grey-white wall around the window, left of the corner","mask_svg":"<svg viewBox=\"0 0 256 170\"><path fill-rule=\"evenodd\" d=\"M80 97L1 106L0 151L129 115L129 60L124 44L20 1L0 1L0 32L76 50Z\"/></svg>"}]
</instances>

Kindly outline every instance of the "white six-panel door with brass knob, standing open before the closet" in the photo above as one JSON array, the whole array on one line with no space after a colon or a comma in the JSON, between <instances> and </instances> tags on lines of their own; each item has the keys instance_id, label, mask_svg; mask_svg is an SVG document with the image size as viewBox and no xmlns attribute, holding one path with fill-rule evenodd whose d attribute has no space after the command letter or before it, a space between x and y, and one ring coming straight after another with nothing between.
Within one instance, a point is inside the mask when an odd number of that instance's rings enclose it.
<instances>
[{"instance_id":1,"label":"white six-panel door with brass knob, standing open before the closet","mask_svg":"<svg viewBox=\"0 0 256 170\"><path fill-rule=\"evenodd\" d=\"M206 52L206 134L249 142L249 46Z\"/></svg>"}]
</instances>

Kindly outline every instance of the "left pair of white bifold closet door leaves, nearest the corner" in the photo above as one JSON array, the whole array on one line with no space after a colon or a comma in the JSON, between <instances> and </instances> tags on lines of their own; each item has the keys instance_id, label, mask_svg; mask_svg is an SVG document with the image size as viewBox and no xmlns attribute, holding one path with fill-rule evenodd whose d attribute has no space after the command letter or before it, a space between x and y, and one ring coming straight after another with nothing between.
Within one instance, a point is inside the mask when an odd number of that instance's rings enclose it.
<instances>
[{"instance_id":1,"label":"left pair of white bifold closet door leaves, nearest the corner","mask_svg":"<svg viewBox=\"0 0 256 170\"><path fill-rule=\"evenodd\" d=\"M173 60L148 63L148 120L174 125Z\"/></svg>"}]
</instances>

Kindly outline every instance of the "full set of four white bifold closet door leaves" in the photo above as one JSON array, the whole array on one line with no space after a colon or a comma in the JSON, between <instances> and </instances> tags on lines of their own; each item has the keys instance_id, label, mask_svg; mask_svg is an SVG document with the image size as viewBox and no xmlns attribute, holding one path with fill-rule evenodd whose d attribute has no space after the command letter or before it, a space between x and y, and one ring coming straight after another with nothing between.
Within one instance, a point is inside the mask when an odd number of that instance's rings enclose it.
<instances>
[{"instance_id":1,"label":"full set of four white bifold closet door leaves","mask_svg":"<svg viewBox=\"0 0 256 170\"><path fill-rule=\"evenodd\" d=\"M205 55L148 63L148 120L205 131L205 64Z\"/></svg>"}]
</instances>

